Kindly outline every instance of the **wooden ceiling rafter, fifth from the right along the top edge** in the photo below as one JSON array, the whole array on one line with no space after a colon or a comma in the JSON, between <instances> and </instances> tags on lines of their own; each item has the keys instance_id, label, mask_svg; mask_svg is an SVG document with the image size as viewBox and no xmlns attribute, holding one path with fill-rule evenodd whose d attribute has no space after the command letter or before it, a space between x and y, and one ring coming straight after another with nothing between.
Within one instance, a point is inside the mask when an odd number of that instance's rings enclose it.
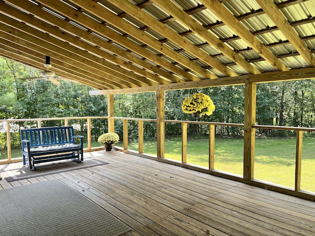
<instances>
[{"instance_id":1,"label":"wooden ceiling rafter, fifth from the right along the top edge","mask_svg":"<svg viewBox=\"0 0 315 236\"><path fill-rule=\"evenodd\" d=\"M191 71L199 75L201 78L207 78L207 79L217 78L217 76L215 76L211 72L203 69L201 66L197 65L196 63L191 63L191 61L188 58L180 55L179 53L174 52L168 46L163 45L162 43L158 42L158 40L144 33L140 29L137 29L133 25L127 23L127 21L118 17L117 15L107 10L105 7L95 3L94 1L92 0L70 0L70 1L82 7L84 10L91 12L92 14L104 20L105 22L126 32L130 36L135 37L137 40L143 42L144 44L149 45L154 50L157 50L159 53L165 55L166 57L180 63L184 67L189 68Z\"/></svg>"}]
</instances>

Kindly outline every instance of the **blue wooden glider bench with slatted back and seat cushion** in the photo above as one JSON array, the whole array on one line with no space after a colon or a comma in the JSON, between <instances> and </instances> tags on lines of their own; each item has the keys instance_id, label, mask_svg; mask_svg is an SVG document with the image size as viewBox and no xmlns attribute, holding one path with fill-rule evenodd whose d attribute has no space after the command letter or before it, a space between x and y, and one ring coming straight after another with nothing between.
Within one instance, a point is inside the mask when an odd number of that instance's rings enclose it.
<instances>
[{"instance_id":1,"label":"blue wooden glider bench with slatted back and seat cushion","mask_svg":"<svg viewBox=\"0 0 315 236\"><path fill-rule=\"evenodd\" d=\"M76 144L75 138L80 139ZM30 170L35 164L73 159L83 161L83 136L74 135L73 127L44 127L21 129L23 165L29 163Z\"/></svg>"}]
</instances>

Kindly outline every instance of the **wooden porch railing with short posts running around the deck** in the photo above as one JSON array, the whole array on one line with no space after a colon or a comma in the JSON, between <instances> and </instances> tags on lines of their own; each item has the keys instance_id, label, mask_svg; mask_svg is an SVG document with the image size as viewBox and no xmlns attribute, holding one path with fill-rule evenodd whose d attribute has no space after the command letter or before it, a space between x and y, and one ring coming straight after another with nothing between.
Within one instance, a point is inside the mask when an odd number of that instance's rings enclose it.
<instances>
[{"instance_id":1,"label":"wooden porch railing with short posts running around the deck","mask_svg":"<svg viewBox=\"0 0 315 236\"><path fill-rule=\"evenodd\" d=\"M71 118L38 118L38 119L7 119L7 120L0 120L0 122L6 123L6 133L7 133L7 153L8 153L8 159L0 161L0 164L4 163L11 163L11 162L17 162L22 161L22 158L15 158L11 159L11 145L10 145L10 123L11 122L17 122L17 121L34 121L37 122L37 126L41 127L41 123L44 120L63 120L64 125L68 125L70 119L86 119L87 124L87 140L88 140L88 147L85 148L85 151L94 151L94 150L100 150L102 147L92 148L91 145L91 119L98 119L98 118L109 118L109 117L71 117ZM287 130L287 131L296 131L296 153L295 153L295 186L294 189L284 187L284 186L278 186L276 184L272 184L269 182L264 182L257 179L246 179L243 176L235 175L232 173L226 173L219 170L214 169L214 153L215 153L215 126L234 126L234 127L242 127L244 128L244 124L236 124L236 123L220 123L220 122L202 122L202 121L188 121L188 120L166 120L161 119L160 122L164 124L165 123L181 123L181 133L182 133L182 160L175 161L164 157L164 133L161 135L161 139L157 140L160 142L160 144L157 145L157 149L161 147L163 150L157 150L157 153L160 153L161 155L159 157L149 155L144 153L144 122L157 122L157 119L142 119L142 118L123 118L123 117L110 117L112 120L122 120L123 121L123 147L114 147L114 149L128 152L134 155L139 155L146 158L156 159L158 161L163 161L167 163L171 163L178 166L183 166L189 169L197 170L199 172L204 172L220 177L225 177L245 183L250 183L256 186L260 186L263 188L272 189L278 192L283 192L289 195L299 196L311 200L315 200L315 194L312 192L306 192L300 190L300 184L301 184L301 160L302 160L302 141L303 141L303 132L313 132L315 131L315 128L302 128L302 127L284 127L284 126L268 126L268 125L253 125L252 129L269 129L269 130ZM128 121L134 120L138 122L138 150L132 151L128 149ZM188 140L188 124L199 124L199 125L208 125L209 129L209 166L207 168L205 167L199 167L195 165L191 165L187 161L187 140ZM246 146L244 139L244 147ZM253 147L254 148L254 147ZM246 168L245 164L243 163L244 168Z\"/></svg>"}]
</instances>

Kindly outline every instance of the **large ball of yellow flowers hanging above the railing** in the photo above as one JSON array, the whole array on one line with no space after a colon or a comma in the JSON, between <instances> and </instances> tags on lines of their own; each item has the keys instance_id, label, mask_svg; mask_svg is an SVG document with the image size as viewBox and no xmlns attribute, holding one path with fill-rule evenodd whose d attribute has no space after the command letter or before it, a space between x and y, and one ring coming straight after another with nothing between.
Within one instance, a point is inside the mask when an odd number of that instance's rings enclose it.
<instances>
[{"instance_id":1,"label":"large ball of yellow flowers hanging above the railing","mask_svg":"<svg viewBox=\"0 0 315 236\"><path fill-rule=\"evenodd\" d=\"M211 116L216 106L208 95L200 92L186 97L183 101L182 109L183 112L197 118L203 115Z\"/></svg>"}]
</instances>

